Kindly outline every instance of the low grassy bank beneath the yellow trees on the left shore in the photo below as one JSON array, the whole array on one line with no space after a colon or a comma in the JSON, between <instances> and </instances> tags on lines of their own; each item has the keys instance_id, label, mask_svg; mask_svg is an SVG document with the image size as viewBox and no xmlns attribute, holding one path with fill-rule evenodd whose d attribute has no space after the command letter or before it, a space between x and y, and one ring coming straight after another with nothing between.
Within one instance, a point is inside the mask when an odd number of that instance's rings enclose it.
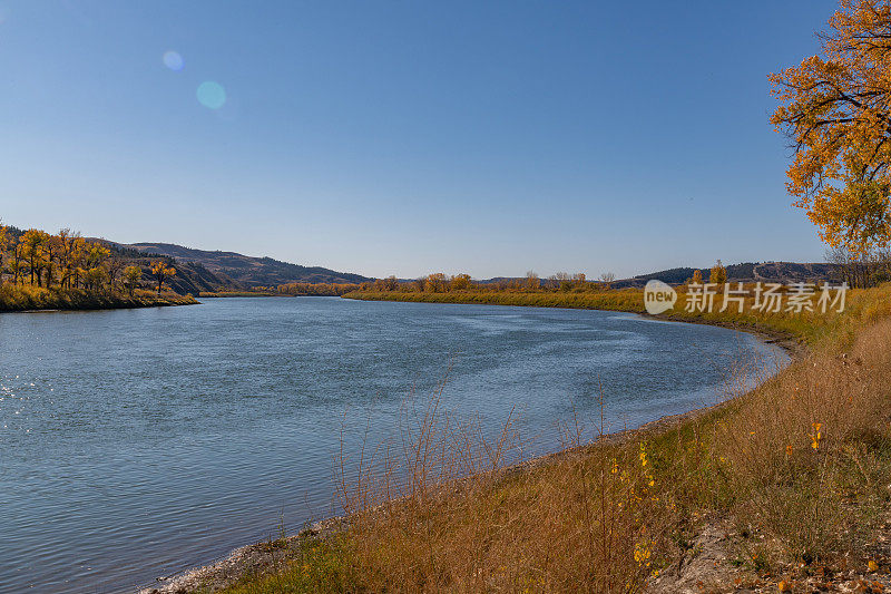
<instances>
[{"instance_id":1,"label":"low grassy bank beneath the yellow trees on the left shore","mask_svg":"<svg viewBox=\"0 0 891 594\"><path fill-rule=\"evenodd\" d=\"M30 310L109 310L124 308L155 308L161 305L190 305L197 303L192 295L135 291L133 296L117 292L84 291L80 289L43 289L31 285L3 284L0 286L0 312Z\"/></svg>"}]
</instances>

